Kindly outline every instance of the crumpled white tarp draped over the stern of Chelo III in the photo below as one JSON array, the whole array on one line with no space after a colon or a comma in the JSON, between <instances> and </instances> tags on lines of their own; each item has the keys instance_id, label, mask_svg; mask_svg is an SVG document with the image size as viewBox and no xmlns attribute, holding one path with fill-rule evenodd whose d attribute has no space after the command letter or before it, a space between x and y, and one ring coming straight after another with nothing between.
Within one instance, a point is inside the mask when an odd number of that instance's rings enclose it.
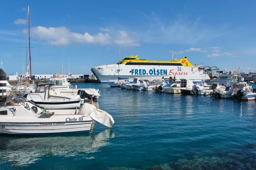
<instances>
[{"instance_id":1,"label":"crumpled white tarp draped over the stern of Chelo III","mask_svg":"<svg viewBox=\"0 0 256 170\"><path fill-rule=\"evenodd\" d=\"M85 116L89 115L92 119L110 128L115 122L110 114L97 109L95 105L91 105L89 103L84 103L79 109L78 114L84 114Z\"/></svg>"}]
</instances>

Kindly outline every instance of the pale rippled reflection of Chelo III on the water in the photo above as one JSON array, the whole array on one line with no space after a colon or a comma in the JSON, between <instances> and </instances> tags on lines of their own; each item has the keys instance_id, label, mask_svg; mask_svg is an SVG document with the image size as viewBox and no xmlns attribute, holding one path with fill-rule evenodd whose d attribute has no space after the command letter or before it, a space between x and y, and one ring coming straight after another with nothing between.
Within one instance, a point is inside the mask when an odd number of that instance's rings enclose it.
<instances>
[{"instance_id":1,"label":"pale rippled reflection of Chelo III on the water","mask_svg":"<svg viewBox=\"0 0 256 170\"><path fill-rule=\"evenodd\" d=\"M40 137L0 137L0 162L8 162L11 166L28 166L42 157L71 157L76 159L93 159L90 153L99 152L107 146L109 139L114 138L112 129L97 135L40 136Z\"/></svg>"}]
</instances>

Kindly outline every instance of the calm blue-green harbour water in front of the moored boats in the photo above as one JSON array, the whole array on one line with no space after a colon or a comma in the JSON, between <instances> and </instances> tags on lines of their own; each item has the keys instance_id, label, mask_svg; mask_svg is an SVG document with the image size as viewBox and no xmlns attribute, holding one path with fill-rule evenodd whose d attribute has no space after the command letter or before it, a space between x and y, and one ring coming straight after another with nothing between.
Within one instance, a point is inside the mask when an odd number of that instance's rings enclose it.
<instances>
[{"instance_id":1,"label":"calm blue-green harbour water in front of the moored boats","mask_svg":"<svg viewBox=\"0 0 256 170\"><path fill-rule=\"evenodd\" d=\"M0 136L0 169L256 169L256 102L99 88L113 116L87 134Z\"/></svg>"}]
</instances>

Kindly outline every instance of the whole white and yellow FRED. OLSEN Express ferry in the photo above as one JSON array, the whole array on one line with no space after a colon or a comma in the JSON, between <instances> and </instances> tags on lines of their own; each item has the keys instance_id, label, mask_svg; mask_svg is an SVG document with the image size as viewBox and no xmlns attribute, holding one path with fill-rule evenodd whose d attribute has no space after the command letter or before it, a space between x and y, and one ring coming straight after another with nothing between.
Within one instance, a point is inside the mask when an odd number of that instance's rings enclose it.
<instances>
[{"instance_id":1,"label":"whole white and yellow FRED. OLSEN Express ferry","mask_svg":"<svg viewBox=\"0 0 256 170\"><path fill-rule=\"evenodd\" d=\"M187 58L171 61L148 61L137 56L127 56L122 61L111 65L101 65L91 68L92 73L101 83L116 82L121 78L133 81L134 77L156 80L162 78L191 79L192 81L205 81L210 79L203 73L204 68L192 65ZM118 74L119 73L119 74Z\"/></svg>"}]
</instances>

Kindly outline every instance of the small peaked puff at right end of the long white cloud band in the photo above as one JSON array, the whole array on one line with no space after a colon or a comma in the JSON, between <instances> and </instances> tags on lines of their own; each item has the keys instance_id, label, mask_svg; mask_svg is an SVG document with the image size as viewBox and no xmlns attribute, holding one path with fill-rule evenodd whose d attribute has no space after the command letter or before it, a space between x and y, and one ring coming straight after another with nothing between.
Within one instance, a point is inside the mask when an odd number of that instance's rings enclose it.
<instances>
[{"instance_id":1,"label":"small peaked puff at right end of the long white cloud band","mask_svg":"<svg viewBox=\"0 0 256 170\"><path fill-rule=\"evenodd\" d=\"M119 31L119 35L114 42L122 46L140 46L139 40L129 37L125 31Z\"/></svg>"}]
</instances>

